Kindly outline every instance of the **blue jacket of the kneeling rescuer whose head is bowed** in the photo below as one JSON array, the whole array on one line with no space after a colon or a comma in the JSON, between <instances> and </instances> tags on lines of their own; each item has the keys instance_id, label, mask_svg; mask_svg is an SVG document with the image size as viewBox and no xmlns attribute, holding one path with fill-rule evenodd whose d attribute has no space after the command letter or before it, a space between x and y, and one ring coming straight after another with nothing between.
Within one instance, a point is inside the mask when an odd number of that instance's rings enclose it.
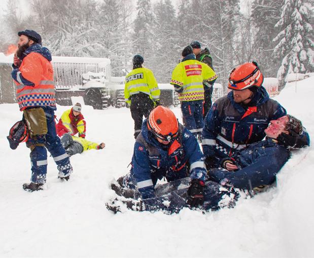
<instances>
[{"instance_id":1,"label":"blue jacket of the kneeling rescuer whose head is bowed","mask_svg":"<svg viewBox=\"0 0 314 258\"><path fill-rule=\"evenodd\" d=\"M184 178L190 172L191 179L205 180L204 156L193 134L179 124L175 141L159 143L147 128L147 119L142 132L136 138L132 157L131 178L143 199L153 198L157 179L163 176L168 181Z\"/></svg>"}]
</instances>

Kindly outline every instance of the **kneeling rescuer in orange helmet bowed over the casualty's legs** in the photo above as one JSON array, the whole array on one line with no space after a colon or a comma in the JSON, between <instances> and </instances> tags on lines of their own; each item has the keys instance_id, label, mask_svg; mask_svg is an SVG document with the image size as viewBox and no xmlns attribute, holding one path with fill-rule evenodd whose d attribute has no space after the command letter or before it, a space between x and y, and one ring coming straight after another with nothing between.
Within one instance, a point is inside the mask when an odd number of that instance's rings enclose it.
<instances>
[{"instance_id":1,"label":"kneeling rescuer in orange helmet bowed over the casualty's legs","mask_svg":"<svg viewBox=\"0 0 314 258\"><path fill-rule=\"evenodd\" d=\"M169 108L159 105L144 120L131 164L130 173L118 181L121 186L136 188L143 200L156 197L154 186L158 179L165 177L170 182L190 176L188 203L203 203L204 156L197 139Z\"/></svg>"}]
</instances>

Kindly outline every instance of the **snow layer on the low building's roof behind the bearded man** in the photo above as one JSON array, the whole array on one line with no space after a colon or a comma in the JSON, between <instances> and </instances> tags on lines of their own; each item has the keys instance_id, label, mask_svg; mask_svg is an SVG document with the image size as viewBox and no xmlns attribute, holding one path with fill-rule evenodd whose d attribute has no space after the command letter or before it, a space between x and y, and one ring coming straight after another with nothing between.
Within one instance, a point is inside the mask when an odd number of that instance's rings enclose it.
<instances>
[{"instance_id":1,"label":"snow layer on the low building's roof behind the bearded man","mask_svg":"<svg viewBox=\"0 0 314 258\"><path fill-rule=\"evenodd\" d=\"M14 54L6 56L4 53L0 53L0 63L13 63L13 56ZM52 63L97 63L100 66L106 66L111 61L109 58L99 57L53 56Z\"/></svg>"}]
</instances>

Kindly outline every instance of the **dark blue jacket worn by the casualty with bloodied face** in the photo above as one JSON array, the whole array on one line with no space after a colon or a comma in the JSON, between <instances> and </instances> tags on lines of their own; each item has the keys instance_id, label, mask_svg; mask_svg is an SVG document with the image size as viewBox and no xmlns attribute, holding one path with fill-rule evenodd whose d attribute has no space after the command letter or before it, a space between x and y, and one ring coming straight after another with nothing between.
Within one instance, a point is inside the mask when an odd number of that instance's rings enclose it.
<instances>
[{"instance_id":1,"label":"dark blue jacket worn by the casualty with bloodied face","mask_svg":"<svg viewBox=\"0 0 314 258\"><path fill-rule=\"evenodd\" d=\"M233 155L234 164L239 167L239 170L227 171L214 168L209 173L210 179L216 182L225 180L236 188L248 190L271 185L289 157L290 152L284 146L267 138Z\"/></svg>"}]
</instances>

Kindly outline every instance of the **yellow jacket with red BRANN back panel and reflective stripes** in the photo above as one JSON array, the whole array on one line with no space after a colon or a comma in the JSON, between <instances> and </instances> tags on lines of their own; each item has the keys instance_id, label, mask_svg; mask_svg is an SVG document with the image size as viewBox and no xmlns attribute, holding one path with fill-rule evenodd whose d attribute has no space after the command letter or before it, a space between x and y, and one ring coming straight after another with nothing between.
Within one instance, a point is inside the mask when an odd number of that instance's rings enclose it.
<instances>
[{"instance_id":1,"label":"yellow jacket with red BRANN back panel and reflective stripes","mask_svg":"<svg viewBox=\"0 0 314 258\"><path fill-rule=\"evenodd\" d=\"M215 71L207 64L188 59L179 63L172 71L170 84L182 87L183 91L179 93L180 101L203 100L203 81L212 82L217 77Z\"/></svg>"}]
</instances>

